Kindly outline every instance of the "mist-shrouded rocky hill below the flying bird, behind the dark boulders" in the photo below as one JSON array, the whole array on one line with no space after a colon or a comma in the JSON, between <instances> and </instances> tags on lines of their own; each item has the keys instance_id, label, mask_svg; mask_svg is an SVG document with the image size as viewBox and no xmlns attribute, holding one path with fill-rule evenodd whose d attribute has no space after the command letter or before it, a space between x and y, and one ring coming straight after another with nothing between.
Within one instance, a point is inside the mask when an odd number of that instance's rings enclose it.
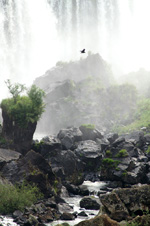
<instances>
[{"instance_id":1,"label":"mist-shrouded rocky hill below the flying bird, behind the dark boulders","mask_svg":"<svg viewBox=\"0 0 150 226\"><path fill-rule=\"evenodd\" d=\"M132 85L116 86L110 66L99 56L61 63L37 78L46 92L46 111L37 131L58 133L61 128L95 124L103 130L125 123L135 110L137 94ZM123 122L124 121L124 122Z\"/></svg>"}]
</instances>

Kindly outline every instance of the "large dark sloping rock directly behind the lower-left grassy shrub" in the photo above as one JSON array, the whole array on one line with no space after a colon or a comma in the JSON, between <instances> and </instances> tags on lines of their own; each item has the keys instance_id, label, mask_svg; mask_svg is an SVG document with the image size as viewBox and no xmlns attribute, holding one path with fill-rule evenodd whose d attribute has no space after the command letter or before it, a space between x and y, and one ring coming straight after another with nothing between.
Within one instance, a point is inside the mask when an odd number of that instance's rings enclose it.
<instances>
[{"instance_id":1,"label":"large dark sloping rock directly behind the lower-left grassy shrub","mask_svg":"<svg viewBox=\"0 0 150 226\"><path fill-rule=\"evenodd\" d=\"M24 180L36 184L45 196L53 194L53 185L56 186L55 181L58 181L49 163L34 151L29 151L18 161L5 164L1 173L13 184ZM59 186L59 181L57 185ZM57 190L59 191L59 187Z\"/></svg>"}]
</instances>

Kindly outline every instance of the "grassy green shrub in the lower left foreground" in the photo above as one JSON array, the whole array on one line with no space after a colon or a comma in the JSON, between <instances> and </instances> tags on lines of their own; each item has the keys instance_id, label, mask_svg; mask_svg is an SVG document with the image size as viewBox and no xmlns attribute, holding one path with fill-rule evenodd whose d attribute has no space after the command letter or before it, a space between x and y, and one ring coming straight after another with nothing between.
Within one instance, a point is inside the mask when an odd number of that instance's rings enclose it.
<instances>
[{"instance_id":1,"label":"grassy green shrub in the lower left foreground","mask_svg":"<svg viewBox=\"0 0 150 226\"><path fill-rule=\"evenodd\" d=\"M23 211L40 198L43 198L43 195L36 186L26 183L21 186L0 184L0 214L10 214L15 210Z\"/></svg>"}]
</instances>

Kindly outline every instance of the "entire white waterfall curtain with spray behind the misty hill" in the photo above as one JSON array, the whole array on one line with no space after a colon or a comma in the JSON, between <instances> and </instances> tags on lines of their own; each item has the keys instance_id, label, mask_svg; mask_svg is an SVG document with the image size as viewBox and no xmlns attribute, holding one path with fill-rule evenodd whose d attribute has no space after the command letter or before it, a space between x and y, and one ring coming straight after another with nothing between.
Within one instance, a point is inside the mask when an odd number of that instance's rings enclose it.
<instances>
[{"instance_id":1,"label":"entire white waterfall curtain with spray behind the misty hill","mask_svg":"<svg viewBox=\"0 0 150 226\"><path fill-rule=\"evenodd\" d=\"M150 69L149 8L149 0L0 0L1 89L8 78L31 83L83 48L122 72Z\"/></svg>"}]
</instances>

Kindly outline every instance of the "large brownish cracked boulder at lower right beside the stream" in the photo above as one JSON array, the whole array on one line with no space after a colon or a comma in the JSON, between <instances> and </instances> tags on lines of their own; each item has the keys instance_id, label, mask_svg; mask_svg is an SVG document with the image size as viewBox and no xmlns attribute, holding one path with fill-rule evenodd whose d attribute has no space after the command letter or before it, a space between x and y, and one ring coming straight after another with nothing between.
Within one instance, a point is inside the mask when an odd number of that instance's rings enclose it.
<instances>
[{"instance_id":1,"label":"large brownish cracked boulder at lower right beside the stream","mask_svg":"<svg viewBox=\"0 0 150 226\"><path fill-rule=\"evenodd\" d=\"M150 185L114 190L110 194L102 195L100 200L103 212L112 219L129 220L134 215L143 215L144 211L149 210Z\"/></svg>"}]
</instances>

